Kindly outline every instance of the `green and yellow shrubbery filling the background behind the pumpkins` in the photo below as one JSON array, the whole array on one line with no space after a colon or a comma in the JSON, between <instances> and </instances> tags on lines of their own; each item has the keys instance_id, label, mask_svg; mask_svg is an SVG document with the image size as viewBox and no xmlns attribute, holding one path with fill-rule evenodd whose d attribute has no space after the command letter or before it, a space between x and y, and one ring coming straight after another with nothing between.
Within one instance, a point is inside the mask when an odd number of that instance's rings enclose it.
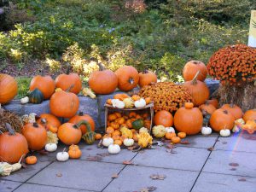
<instances>
[{"instance_id":1,"label":"green and yellow shrubbery filling the background behind the pumpkins","mask_svg":"<svg viewBox=\"0 0 256 192\"><path fill-rule=\"evenodd\" d=\"M67 63L85 77L96 61L115 70L150 68L181 80L189 60L207 63L217 49L247 44L254 0L0 1L0 61L34 59L59 72ZM91 58L95 58L91 60Z\"/></svg>"}]
</instances>

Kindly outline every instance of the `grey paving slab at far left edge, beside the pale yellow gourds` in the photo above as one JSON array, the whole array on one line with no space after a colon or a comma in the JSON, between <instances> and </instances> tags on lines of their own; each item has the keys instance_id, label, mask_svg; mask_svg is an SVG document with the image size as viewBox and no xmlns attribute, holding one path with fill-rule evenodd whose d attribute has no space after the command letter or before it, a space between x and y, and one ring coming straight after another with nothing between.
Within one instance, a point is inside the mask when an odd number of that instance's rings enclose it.
<instances>
[{"instance_id":1,"label":"grey paving slab at far left edge, beside the pale yellow gourds","mask_svg":"<svg viewBox=\"0 0 256 192\"><path fill-rule=\"evenodd\" d=\"M45 162L38 161L38 163L35 165L29 165L25 169L22 168L20 171L14 172L8 177L1 177L1 178L8 179L10 181L25 182L27 179L34 176L38 172L40 172L40 170L42 170L45 166L48 166L50 163L51 163L50 161L45 161Z\"/></svg>"}]
</instances>

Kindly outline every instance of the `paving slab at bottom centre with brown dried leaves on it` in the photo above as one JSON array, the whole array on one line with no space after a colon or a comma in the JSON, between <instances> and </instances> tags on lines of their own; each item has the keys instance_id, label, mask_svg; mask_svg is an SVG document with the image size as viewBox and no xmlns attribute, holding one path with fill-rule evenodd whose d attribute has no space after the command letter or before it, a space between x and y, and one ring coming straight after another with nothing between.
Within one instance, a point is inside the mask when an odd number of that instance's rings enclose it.
<instances>
[{"instance_id":1,"label":"paving slab at bottom centre with brown dried leaves on it","mask_svg":"<svg viewBox=\"0 0 256 192\"><path fill-rule=\"evenodd\" d=\"M167 170L164 168L126 166L120 172L119 177L115 178L108 185L104 192L131 192L140 191L143 188L154 186L154 192L188 192L199 172ZM153 180L153 174L165 175L164 180Z\"/></svg>"}]
</instances>

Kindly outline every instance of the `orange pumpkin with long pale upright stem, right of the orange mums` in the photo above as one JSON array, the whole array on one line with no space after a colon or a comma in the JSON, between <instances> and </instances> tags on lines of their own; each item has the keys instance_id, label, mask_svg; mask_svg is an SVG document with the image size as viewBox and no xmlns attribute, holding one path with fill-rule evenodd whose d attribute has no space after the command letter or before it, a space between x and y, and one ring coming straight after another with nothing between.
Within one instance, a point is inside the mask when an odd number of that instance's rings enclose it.
<instances>
[{"instance_id":1,"label":"orange pumpkin with long pale upright stem, right of the orange mums","mask_svg":"<svg viewBox=\"0 0 256 192\"><path fill-rule=\"evenodd\" d=\"M192 96L192 102L195 106L200 106L205 103L210 96L210 90L207 87L207 84L197 80L196 77L200 72L195 74L194 79L191 81L186 81L183 86L189 90L190 95Z\"/></svg>"}]
</instances>

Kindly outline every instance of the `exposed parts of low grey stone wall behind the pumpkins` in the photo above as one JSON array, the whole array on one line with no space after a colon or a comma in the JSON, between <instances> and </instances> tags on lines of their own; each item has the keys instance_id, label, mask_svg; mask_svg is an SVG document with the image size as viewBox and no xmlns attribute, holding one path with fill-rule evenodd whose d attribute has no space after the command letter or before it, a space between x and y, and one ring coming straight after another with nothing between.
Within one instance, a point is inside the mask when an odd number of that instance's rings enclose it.
<instances>
[{"instance_id":1,"label":"exposed parts of low grey stone wall behind the pumpkins","mask_svg":"<svg viewBox=\"0 0 256 192\"><path fill-rule=\"evenodd\" d=\"M218 89L218 81L207 79L206 80L207 86L212 94L214 90ZM137 89L130 91L131 92L137 92ZM83 113L90 114L90 116L95 120L96 122L96 130L100 131L103 129L105 124L105 111L104 111L104 104L109 98L113 98L113 95L117 93L122 93L121 91L116 91L113 94L110 95L98 95L96 99L91 99L88 96L79 96L79 111L82 111ZM29 114L29 113L50 113L49 111L49 100L44 101L40 104L20 104L20 100L14 100L10 102L8 105L5 105L4 108L6 108L9 111L19 113L19 114ZM61 119L62 121L65 121L65 119ZM66 119L67 120L67 119Z\"/></svg>"}]
</instances>

